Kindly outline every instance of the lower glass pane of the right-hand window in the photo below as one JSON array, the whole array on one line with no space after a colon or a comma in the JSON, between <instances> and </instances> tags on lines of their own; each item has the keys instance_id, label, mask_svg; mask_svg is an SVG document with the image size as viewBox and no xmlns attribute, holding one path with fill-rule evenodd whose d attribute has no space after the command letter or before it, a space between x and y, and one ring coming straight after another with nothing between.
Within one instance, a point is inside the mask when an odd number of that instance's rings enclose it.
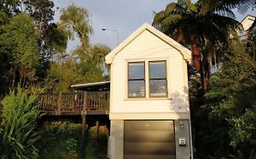
<instances>
[{"instance_id":1,"label":"lower glass pane of the right-hand window","mask_svg":"<svg viewBox=\"0 0 256 159\"><path fill-rule=\"evenodd\" d=\"M150 80L150 96L167 96L166 80Z\"/></svg>"}]
</instances>

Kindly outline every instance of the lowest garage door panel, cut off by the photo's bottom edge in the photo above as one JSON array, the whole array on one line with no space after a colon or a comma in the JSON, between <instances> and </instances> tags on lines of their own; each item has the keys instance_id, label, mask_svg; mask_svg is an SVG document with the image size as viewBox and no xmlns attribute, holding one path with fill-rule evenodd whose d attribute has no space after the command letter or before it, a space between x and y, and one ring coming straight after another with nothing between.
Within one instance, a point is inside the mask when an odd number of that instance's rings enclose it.
<instances>
[{"instance_id":1,"label":"lowest garage door panel, cut off by the photo's bottom edge","mask_svg":"<svg viewBox=\"0 0 256 159\"><path fill-rule=\"evenodd\" d=\"M175 159L175 155L167 154L126 154L127 159Z\"/></svg>"}]
</instances>

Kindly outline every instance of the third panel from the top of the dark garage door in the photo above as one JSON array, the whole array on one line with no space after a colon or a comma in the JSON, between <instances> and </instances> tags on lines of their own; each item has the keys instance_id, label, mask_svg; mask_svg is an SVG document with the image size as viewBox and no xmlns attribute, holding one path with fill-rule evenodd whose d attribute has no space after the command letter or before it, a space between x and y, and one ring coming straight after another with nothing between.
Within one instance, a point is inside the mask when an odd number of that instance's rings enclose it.
<instances>
[{"instance_id":1,"label":"third panel from the top of the dark garage door","mask_svg":"<svg viewBox=\"0 0 256 159\"><path fill-rule=\"evenodd\" d=\"M175 143L127 142L125 147L125 154L175 154Z\"/></svg>"}]
</instances>

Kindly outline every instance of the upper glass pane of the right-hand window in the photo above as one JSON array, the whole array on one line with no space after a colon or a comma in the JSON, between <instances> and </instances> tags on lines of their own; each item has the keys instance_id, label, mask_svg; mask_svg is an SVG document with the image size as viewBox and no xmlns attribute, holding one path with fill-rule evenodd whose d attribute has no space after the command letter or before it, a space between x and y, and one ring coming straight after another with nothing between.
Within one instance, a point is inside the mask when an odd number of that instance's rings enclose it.
<instances>
[{"instance_id":1,"label":"upper glass pane of the right-hand window","mask_svg":"<svg viewBox=\"0 0 256 159\"><path fill-rule=\"evenodd\" d=\"M149 78L166 78L166 62L149 62Z\"/></svg>"}]
</instances>

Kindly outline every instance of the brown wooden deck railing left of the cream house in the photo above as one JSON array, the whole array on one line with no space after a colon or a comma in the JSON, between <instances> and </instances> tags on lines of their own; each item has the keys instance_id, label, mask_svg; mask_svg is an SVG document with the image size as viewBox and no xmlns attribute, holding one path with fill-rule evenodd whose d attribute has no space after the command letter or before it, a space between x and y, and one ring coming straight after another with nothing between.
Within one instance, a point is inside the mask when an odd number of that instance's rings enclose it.
<instances>
[{"instance_id":1,"label":"brown wooden deck railing left of the cream house","mask_svg":"<svg viewBox=\"0 0 256 159\"><path fill-rule=\"evenodd\" d=\"M45 115L108 114L109 92L39 94Z\"/></svg>"}]
</instances>

